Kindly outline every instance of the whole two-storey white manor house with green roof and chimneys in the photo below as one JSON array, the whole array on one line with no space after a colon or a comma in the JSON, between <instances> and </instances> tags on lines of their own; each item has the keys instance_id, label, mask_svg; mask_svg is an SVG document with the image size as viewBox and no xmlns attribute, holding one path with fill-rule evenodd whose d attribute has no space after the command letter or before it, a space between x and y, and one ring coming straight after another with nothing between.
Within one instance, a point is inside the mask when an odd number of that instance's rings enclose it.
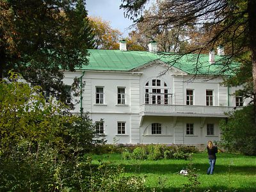
<instances>
[{"instance_id":1,"label":"whole two-storey white manor house with green roof and chimneys","mask_svg":"<svg viewBox=\"0 0 256 192\"><path fill-rule=\"evenodd\" d=\"M148 51L127 51L120 41L120 50L88 50L89 64L65 72L63 80L70 85L79 77L85 83L73 112L82 107L93 122L103 120L97 132L106 134L107 143L199 147L220 140L221 118L250 101L234 95L239 87L223 86L223 77L214 77L223 47L216 56L214 51L199 58L189 54L172 63L172 54L157 54L156 46L151 42Z\"/></svg>"}]
</instances>

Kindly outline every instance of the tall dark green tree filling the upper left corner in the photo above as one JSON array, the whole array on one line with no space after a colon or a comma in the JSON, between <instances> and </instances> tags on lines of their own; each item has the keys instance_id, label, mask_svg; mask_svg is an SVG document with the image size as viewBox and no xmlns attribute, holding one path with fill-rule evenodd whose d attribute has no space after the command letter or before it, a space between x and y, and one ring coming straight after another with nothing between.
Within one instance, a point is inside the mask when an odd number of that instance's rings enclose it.
<instances>
[{"instance_id":1,"label":"tall dark green tree filling the upper left corner","mask_svg":"<svg viewBox=\"0 0 256 192\"><path fill-rule=\"evenodd\" d=\"M13 69L65 98L63 70L88 63L93 47L85 1L2 0L0 10L0 78Z\"/></svg>"}]
</instances>

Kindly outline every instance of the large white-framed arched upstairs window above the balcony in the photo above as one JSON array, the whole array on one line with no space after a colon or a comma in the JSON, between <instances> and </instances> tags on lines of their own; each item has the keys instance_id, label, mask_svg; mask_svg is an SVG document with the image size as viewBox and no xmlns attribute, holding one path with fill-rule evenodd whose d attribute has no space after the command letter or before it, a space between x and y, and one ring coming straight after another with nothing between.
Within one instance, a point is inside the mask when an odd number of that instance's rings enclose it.
<instances>
[{"instance_id":1,"label":"large white-framed arched upstairs window above the balcony","mask_svg":"<svg viewBox=\"0 0 256 192\"><path fill-rule=\"evenodd\" d=\"M170 88L160 79L152 79L145 84L145 104L170 104L171 97Z\"/></svg>"}]
</instances>

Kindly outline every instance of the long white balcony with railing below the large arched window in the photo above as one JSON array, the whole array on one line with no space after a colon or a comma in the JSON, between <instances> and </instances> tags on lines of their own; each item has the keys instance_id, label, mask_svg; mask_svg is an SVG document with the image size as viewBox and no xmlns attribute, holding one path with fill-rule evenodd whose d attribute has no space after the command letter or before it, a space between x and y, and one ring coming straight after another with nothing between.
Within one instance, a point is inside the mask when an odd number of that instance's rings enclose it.
<instances>
[{"instance_id":1,"label":"long white balcony with railing below the large arched window","mask_svg":"<svg viewBox=\"0 0 256 192\"><path fill-rule=\"evenodd\" d=\"M226 117L234 107L225 106L184 106L143 104L140 106L141 116L212 116ZM239 109L239 108L237 108Z\"/></svg>"}]
</instances>

